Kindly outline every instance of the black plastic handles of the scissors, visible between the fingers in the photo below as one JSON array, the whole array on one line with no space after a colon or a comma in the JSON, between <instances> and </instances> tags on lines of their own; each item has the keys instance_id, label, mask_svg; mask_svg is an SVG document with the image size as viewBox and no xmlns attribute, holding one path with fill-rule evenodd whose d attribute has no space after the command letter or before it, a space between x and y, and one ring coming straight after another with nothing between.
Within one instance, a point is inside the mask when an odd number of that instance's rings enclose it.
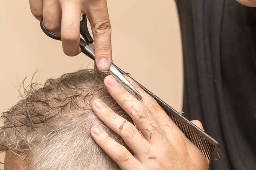
<instances>
[{"instance_id":1,"label":"black plastic handles of the scissors, visible between the fingers","mask_svg":"<svg viewBox=\"0 0 256 170\"><path fill-rule=\"evenodd\" d=\"M48 31L47 28L45 28L44 23L43 23L43 19L40 21L40 26L41 26L41 29L44 31L44 33L47 34L48 37L50 37L54 40L61 41L61 35L53 34L50 31ZM80 22L80 34L84 38L84 40L80 38L79 46L82 50L81 52L94 60L95 58L85 50L85 46L87 44L93 42L93 38L90 36L90 33L88 31L88 28L87 28L87 20L86 20L85 15L83 15L83 19Z\"/></svg>"}]
</instances>

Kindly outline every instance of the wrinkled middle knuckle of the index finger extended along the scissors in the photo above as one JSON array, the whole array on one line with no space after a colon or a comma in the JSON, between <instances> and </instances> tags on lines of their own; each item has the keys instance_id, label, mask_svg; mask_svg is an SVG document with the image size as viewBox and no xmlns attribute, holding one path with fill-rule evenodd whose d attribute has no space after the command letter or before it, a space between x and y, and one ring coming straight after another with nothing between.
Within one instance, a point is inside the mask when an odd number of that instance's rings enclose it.
<instances>
[{"instance_id":1,"label":"wrinkled middle knuckle of the index finger extended along the scissors","mask_svg":"<svg viewBox=\"0 0 256 170\"><path fill-rule=\"evenodd\" d=\"M109 22L109 20L96 23L93 28L93 34L97 36L111 34L111 23Z\"/></svg>"}]
</instances>

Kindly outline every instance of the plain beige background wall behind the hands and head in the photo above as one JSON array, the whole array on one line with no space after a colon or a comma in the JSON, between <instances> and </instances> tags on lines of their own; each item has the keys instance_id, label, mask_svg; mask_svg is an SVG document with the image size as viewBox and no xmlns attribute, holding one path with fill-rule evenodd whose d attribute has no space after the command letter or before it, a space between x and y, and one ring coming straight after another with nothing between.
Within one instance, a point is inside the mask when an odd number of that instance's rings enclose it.
<instances>
[{"instance_id":1,"label":"plain beige background wall behind the hands and head","mask_svg":"<svg viewBox=\"0 0 256 170\"><path fill-rule=\"evenodd\" d=\"M174 0L108 0L113 61L173 108L182 105L182 51ZM17 87L40 69L37 81L86 68L89 57L67 57L47 37L29 0L0 2L0 112L19 101Z\"/></svg>"}]
</instances>

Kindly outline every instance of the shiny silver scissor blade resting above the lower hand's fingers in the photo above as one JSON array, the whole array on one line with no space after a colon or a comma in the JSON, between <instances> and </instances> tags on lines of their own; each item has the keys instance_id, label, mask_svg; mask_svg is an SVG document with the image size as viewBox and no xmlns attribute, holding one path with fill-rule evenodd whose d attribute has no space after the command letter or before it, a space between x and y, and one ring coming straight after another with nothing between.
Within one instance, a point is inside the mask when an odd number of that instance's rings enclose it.
<instances>
[{"instance_id":1,"label":"shiny silver scissor blade resting above the lower hand's fingers","mask_svg":"<svg viewBox=\"0 0 256 170\"><path fill-rule=\"evenodd\" d=\"M117 70L117 68L111 63L108 72L136 99L142 99L140 93L134 88L133 85Z\"/></svg>"}]
</instances>

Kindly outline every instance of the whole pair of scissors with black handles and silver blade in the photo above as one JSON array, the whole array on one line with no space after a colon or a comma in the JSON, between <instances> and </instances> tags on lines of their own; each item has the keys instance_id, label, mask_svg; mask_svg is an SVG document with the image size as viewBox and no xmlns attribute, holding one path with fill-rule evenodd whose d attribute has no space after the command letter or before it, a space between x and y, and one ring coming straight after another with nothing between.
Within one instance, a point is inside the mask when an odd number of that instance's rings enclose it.
<instances>
[{"instance_id":1,"label":"whole pair of scissors with black handles and silver blade","mask_svg":"<svg viewBox=\"0 0 256 170\"><path fill-rule=\"evenodd\" d=\"M50 31L48 31L43 24L43 19L40 22L40 26L45 34L47 34L49 37L55 40L61 41L61 36L57 34L53 34ZM83 14L81 17L80 22L80 34L84 38L80 38L80 48L81 52L90 57L91 59L95 60L95 47L93 43L93 38L90 36L90 33L87 28L87 19L86 15ZM108 72L116 79L117 82L119 82L131 95L133 95L136 99L140 100L142 99L142 96L140 93L134 88L133 85L123 76L124 71L122 71L120 68L118 68L116 65L114 65L111 62L111 66L108 70ZM127 75L127 74L125 74Z\"/></svg>"}]
</instances>

